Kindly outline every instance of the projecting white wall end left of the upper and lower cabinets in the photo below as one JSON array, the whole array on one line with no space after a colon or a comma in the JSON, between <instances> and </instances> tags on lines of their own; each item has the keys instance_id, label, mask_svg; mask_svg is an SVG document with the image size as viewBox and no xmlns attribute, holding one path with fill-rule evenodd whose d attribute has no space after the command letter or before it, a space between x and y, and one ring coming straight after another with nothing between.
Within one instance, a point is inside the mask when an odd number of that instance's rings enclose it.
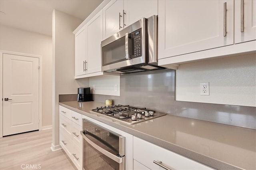
<instances>
[{"instance_id":1,"label":"projecting white wall end left of the upper and lower cabinets","mask_svg":"<svg viewBox=\"0 0 256 170\"><path fill-rule=\"evenodd\" d=\"M54 10L52 13L53 42L53 133L52 150L59 146L59 94L75 94L78 87L89 85L88 78L74 79L75 36L73 31L82 20Z\"/></svg>"}]
</instances>

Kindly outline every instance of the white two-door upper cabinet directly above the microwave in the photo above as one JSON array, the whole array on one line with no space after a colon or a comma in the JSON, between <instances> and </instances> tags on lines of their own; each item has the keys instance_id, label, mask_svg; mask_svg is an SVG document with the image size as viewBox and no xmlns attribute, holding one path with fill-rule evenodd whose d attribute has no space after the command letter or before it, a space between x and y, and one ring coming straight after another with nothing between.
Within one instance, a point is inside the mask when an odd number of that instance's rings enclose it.
<instances>
[{"instance_id":1,"label":"white two-door upper cabinet directly above the microwave","mask_svg":"<svg viewBox=\"0 0 256 170\"><path fill-rule=\"evenodd\" d=\"M157 14L157 0L111 0L103 8L103 38L112 36L141 18Z\"/></svg>"}]
</instances>

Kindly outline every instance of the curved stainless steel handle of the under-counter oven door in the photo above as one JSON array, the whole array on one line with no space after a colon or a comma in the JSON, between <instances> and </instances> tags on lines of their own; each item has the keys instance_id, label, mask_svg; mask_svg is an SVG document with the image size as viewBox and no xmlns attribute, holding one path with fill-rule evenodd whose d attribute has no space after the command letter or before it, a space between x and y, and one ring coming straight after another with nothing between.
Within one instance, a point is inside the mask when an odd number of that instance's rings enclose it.
<instances>
[{"instance_id":1,"label":"curved stainless steel handle of the under-counter oven door","mask_svg":"<svg viewBox=\"0 0 256 170\"><path fill-rule=\"evenodd\" d=\"M102 154L108 156L109 158L111 158L112 160L116 161L117 163L122 163L123 162L123 157L119 157L116 156L110 152L108 152L107 150L101 148L100 146L98 146L97 144L95 144L94 142L92 142L92 140L90 140L88 137L86 137L83 133L83 131L80 132L81 135L83 136L84 140L86 140L86 142L88 142L90 145L92 145L92 147L94 147L96 150L98 150L99 152L101 152Z\"/></svg>"}]
</instances>

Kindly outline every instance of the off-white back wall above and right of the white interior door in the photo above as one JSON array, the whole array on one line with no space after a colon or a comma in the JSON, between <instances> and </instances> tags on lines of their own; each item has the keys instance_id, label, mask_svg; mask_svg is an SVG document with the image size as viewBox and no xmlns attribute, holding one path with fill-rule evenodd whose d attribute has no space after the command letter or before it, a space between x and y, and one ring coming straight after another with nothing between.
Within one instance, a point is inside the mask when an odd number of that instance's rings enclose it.
<instances>
[{"instance_id":1,"label":"off-white back wall above and right of the white interior door","mask_svg":"<svg viewBox=\"0 0 256 170\"><path fill-rule=\"evenodd\" d=\"M52 38L0 25L0 49L42 56L42 126L52 125Z\"/></svg>"}]
</instances>

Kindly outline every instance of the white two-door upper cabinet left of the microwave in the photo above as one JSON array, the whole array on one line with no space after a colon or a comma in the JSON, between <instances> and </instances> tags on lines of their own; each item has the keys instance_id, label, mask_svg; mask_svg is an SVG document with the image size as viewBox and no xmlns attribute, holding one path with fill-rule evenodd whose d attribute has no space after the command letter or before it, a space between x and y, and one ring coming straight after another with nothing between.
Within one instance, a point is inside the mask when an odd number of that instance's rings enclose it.
<instances>
[{"instance_id":1,"label":"white two-door upper cabinet left of the microwave","mask_svg":"<svg viewBox=\"0 0 256 170\"><path fill-rule=\"evenodd\" d=\"M75 34L75 79L101 72L102 10Z\"/></svg>"}]
</instances>

